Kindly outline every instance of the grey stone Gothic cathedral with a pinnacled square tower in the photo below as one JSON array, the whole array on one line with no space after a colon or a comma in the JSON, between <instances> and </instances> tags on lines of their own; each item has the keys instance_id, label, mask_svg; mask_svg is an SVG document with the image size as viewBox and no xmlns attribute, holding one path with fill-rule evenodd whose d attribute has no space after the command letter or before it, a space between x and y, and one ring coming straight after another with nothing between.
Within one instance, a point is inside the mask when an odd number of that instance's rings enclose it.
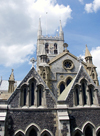
<instances>
[{"instance_id":1,"label":"grey stone Gothic cathedral with a pinnacled square tower","mask_svg":"<svg viewBox=\"0 0 100 136\"><path fill-rule=\"evenodd\" d=\"M0 89L0 136L100 136L100 86L86 45L85 61L59 36L37 33L37 66ZM31 59L32 63L35 59ZM3 86L0 81L0 87Z\"/></svg>"}]
</instances>

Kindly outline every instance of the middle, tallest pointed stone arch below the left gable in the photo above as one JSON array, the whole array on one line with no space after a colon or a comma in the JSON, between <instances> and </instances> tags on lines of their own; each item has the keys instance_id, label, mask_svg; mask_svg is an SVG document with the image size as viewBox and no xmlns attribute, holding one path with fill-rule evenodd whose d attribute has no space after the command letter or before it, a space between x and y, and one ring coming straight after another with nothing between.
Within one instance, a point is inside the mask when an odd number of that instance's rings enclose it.
<instances>
[{"instance_id":1,"label":"middle, tallest pointed stone arch below the left gable","mask_svg":"<svg viewBox=\"0 0 100 136\"><path fill-rule=\"evenodd\" d=\"M41 130L40 130L40 127L39 127L38 125L32 123L32 124L30 124L30 125L26 128L26 130L25 130L26 136L29 136L29 134L30 134L30 132L31 132L32 130L34 130L34 131L36 132L37 136L40 134L40 131L41 131Z\"/></svg>"}]
</instances>

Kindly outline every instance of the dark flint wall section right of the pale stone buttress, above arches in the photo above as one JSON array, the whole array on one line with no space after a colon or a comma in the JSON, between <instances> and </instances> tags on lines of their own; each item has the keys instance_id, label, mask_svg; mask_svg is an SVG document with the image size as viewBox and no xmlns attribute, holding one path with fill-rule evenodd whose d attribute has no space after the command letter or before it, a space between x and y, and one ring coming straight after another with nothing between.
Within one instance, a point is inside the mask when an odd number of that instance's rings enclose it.
<instances>
[{"instance_id":1,"label":"dark flint wall section right of the pale stone buttress, above arches","mask_svg":"<svg viewBox=\"0 0 100 136\"><path fill-rule=\"evenodd\" d=\"M71 131L78 127L82 129L82 126L86 122L93 123L96 128L100 126L100 109L99 108L83 108L70 110L70 125Z\"/></svg>"}]
</instances>

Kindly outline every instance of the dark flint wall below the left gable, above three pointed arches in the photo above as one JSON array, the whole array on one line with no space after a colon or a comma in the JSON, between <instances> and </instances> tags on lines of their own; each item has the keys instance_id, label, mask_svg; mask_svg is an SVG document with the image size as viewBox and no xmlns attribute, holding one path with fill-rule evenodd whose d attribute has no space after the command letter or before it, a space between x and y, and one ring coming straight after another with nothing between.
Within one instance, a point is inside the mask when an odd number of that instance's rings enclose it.
<instances>
[{"instance_id":1,"label":"dark flint wall below the left gable, above three pointed arches","mask_svg":"<svg viewBox=\"0 0 100 136\"><path fill-rule=\"evenodd\" d=\"M9 110L7 115L6 130L10 136L19 130L25 129L34 123L41 129L48 129L54 136L56 133L56 116L52 110Z\"/></svg>"}]
</instances>

